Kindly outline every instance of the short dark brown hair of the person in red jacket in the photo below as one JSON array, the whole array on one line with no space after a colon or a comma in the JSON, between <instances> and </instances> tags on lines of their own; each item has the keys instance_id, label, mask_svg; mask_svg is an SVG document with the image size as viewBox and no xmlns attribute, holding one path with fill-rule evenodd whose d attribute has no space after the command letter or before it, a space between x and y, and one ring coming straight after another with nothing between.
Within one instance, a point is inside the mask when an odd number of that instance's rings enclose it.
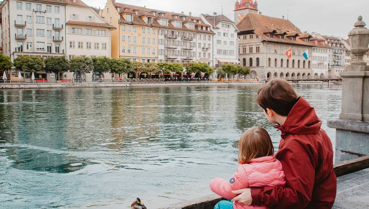
<instances>
[{"instance_id":1,"label":"short dark brown hair of the person in red jacket","mask_svg":"<svg viewBox=\"0 0 369 209\"><path fill-rule=\"evenodd\" d=\"M275 78L259 89L256 102L266 111L268 108L278 115L288 116L298 98L295 90L286 80Z\"/></svg>"}]
</instances>

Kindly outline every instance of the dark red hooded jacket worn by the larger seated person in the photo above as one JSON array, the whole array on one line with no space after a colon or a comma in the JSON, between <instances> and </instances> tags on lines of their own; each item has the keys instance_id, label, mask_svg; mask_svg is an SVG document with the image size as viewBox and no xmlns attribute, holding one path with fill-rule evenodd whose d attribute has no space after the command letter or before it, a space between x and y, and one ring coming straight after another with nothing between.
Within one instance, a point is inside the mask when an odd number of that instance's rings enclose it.
<instances>
[{"instance_id":1,"label":"dark red hooded jacket worn by the larger seated person","mask_svg":"<svg viewBox=\"0 0 369 209\"><path fill-rule=\"evenodd\" d=\"M313 107L302 97L293 106L282 131L276 158L285 172L285 187L252 188L252 205L271 209L331 209L336 176L332 142Z\"/></svg>"}]
</instances>

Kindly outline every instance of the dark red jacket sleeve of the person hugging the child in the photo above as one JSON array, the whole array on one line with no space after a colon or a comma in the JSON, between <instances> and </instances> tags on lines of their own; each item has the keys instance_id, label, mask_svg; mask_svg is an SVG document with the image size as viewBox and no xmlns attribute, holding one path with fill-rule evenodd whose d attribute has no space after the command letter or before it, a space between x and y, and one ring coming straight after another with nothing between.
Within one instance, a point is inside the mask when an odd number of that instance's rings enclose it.
<instances>
[{"instance_id":1,"label":"dark red jacket sleeve of the person hugging the child","mask_svg":"<svg viewBox=\"0 0 369 209\"><path fill-rule=\"evenodd\" d=\"M252 205L273 209L306 208L315 182L315 157L310 147L292 139L278 156L285 171L286 187L252 188Z\"/></svg>"}]
</instances>

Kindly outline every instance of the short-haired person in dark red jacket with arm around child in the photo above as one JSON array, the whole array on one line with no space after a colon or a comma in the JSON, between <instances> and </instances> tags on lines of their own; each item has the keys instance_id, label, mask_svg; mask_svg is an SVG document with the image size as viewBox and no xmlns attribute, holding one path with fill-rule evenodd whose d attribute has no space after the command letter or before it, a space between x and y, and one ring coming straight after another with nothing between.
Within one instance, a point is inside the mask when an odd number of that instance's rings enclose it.
<instances>
[{"instance_id":1,"label":"short-haired person in dark red jacket with arm around child","mask_svg":"<svg viewBox=\"0 0 369 209\"><path fill-rule=\"evenodd\" d=\"M282 79L262 87L257 101L270 122L281 124L275 126L282 131L275 156L286 186L235 191L242 194L233 200L272 209L331 209L336 194L332 142L314 108Z\"/></svg>"}]
</instances>

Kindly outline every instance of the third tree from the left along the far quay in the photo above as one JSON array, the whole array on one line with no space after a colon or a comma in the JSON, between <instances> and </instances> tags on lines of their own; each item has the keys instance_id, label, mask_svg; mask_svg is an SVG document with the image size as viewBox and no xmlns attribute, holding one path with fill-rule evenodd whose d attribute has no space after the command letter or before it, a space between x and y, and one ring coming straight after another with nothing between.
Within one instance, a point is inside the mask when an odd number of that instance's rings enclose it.
<instances>
[{"instance_id":1,"label":"third tree from the left along the far quay","mask_svg":"<svg viewBox=\"0 0 369 209\"><path fill-rule=\"evenodd\" d=\"M55 73L55 82L59 79L59 73L69 70L69 62L65 56L51 56L45 59L45 71Z\"/></svg>"}]
</instances>

